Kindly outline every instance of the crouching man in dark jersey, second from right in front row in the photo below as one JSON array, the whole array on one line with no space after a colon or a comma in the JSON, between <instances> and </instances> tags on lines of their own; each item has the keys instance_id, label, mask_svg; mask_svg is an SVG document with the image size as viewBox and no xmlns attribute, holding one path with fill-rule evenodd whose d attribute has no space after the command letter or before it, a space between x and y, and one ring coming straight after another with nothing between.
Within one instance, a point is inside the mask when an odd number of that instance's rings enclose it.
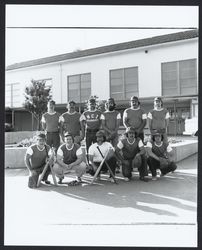
<instances>
[{"instance_id":1,"label":"crouching man in dark jersey, second from right in front row","mask_svg":"<svg viewBox=\"0 0 202 250\"><path fill-rule=\"evenodd\" d=\"M121 139L116 147L116 155L122 162L122 174L125 181L132 178L133 168L138 168L141 181L148 181L146 151L142 140L136 136L135 129L128 127L126 138Z\"/></svg>"}]
</instances>

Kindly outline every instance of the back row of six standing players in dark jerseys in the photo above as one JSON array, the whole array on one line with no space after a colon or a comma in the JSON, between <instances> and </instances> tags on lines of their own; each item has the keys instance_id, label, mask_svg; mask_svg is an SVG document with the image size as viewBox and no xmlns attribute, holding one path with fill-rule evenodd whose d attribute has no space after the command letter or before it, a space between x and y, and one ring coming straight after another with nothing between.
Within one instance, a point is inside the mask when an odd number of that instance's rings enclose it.
<instances>
[{"instance_id":1,"label":"back row of six standing players in dark jerseys","mask_svg":"<svg viewBox=\"0 0 202 250\"><path fill-rule=\"evenodd\" d=\"M167 141L167 128L169 123L169 112L163 107L160 97L154 99L154 109L148 115L142 109L139 99L131 97L131 107L123 113L123 125L125 128L133 127L138 137L144 142L143 130L146 126L147 118L151 135L156 131L160 132L164 140ZM55 102L48 103L48 112L42 117L42 127L47 134L47 144L55 147L60 146L60 136L64 141L64 133L69 132L74 136L75 143L80 143L85 138L86 149L96 142L96 132L101 128L104 130L107 141L113 146L118 143L118 129L121 121L121 114L115 110L116 104L113 98L106 102L105 112L96 108L96 100L88 100L88 110L80 114L76 111L76 103L70 101L67 104L68 111L60 115L55 111Z\"/></svg>"}]
</instances>

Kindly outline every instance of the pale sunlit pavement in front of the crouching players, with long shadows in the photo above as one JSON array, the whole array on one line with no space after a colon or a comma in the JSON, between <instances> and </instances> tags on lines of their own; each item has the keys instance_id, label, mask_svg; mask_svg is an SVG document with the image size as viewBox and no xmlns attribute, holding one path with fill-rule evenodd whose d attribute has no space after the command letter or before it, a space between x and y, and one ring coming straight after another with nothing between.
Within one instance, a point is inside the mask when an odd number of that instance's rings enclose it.
<instances>
[{"instance_id":1,"label":"pale sunlit pavement in front of the crouching players, with long shadows","mask_svg":"<svg viewBox=\"0 0 202 250\"><path fill-rule=\"evenodd\" d=\"M5 245L197 245L197 155L148 183L135 172L131 182L118 175L118 185L101 180L32 190L26 170L5 175Z\"/></svg>"}]
</instances>

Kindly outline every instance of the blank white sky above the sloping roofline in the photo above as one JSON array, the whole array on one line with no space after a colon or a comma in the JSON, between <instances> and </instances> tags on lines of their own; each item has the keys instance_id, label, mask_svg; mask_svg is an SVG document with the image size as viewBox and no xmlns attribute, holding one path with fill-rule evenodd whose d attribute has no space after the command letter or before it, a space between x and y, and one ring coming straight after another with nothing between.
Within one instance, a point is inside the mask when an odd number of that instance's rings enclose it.
<instances>
[{"instance_id":1,"label":"blank white sky above the sloping roofline","mask_svg":"<svg viewBox=\"0 0 202 250\"><path fill-rule=\"evenodd\" d=\"M198 11L198 6L6 5L6 66L198 28Z\"/></svg>"}]
</instances>

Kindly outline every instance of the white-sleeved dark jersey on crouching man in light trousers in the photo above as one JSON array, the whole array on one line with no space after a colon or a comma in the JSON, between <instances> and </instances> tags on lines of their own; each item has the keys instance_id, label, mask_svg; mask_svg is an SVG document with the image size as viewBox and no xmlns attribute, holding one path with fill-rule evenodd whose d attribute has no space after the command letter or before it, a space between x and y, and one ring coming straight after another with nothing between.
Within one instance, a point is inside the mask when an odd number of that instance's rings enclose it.
<instances>
[{"instance_id":1,"label":"white-sleeved dark jersey on crouching man in light trousers","mask_svg":"<svg viewBox=\"0 0 202 250\"><path fill-rule=\"evenodd\" d=\"M79 155L82 155L82 150L76 143L74 143L70 149L64 143L58 148L57 155L63 157L63 162L65 164L71 164L77 160Z\"/></svg>"}]
</instances>

